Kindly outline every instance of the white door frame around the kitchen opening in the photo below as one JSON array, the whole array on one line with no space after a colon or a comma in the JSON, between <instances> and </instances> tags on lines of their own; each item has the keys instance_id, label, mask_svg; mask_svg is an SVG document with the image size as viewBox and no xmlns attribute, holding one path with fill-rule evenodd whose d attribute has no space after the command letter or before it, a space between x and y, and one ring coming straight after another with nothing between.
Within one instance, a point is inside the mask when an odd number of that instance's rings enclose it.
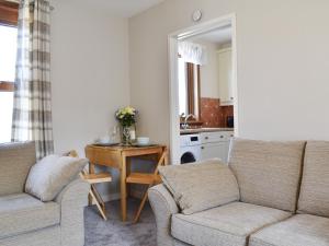
<instances>
[{"instance_id":1,"label":"white door frame around the kitchen opening","mask_svg":"<svg viewBox=\"0 0 329 246\"><path fill-rule=\"evenodd\" d=\"M239 136L238 120L238 81L237 81L237 25L236 14L227 14L201 24L177 31L168 35L169 57L169 93L170 93L170 161L173 164L180 163L180 116L179 116L179 79L178 79L178 42L231 25L231 54L232 54L232 92L235 97L235 136Z\"/></svg>"}]
</instances>

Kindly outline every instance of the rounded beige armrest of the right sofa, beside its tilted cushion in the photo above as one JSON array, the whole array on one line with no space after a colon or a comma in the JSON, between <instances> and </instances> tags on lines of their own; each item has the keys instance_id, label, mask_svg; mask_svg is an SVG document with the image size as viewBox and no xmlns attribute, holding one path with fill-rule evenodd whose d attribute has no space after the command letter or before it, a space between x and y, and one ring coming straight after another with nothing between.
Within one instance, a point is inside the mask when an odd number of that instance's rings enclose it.
<instances>
[{"instance_id":1,"label":"rounded beige armrest of the right sofa, beside its tilted cushion","mask_svg":"<svg viewBox=\"0 0 329 246\"><path fill-rule=\"evenodd\" d=\"M163 185L149 189L148 198L156 215L158 246L172 246L173 237L170 234L171 215L179 212L173 197Z\"/></svg>"}]
</instances>

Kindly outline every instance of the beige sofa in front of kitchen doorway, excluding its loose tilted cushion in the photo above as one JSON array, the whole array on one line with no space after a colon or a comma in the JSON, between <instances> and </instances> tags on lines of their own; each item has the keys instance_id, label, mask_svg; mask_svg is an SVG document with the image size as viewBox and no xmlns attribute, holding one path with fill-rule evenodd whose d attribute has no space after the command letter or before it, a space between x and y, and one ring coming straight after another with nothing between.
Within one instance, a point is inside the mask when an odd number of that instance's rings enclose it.
<instances>
[{"instance_id":1,"label":"beige sofa in front of kitchen doorway, excluding its loose tilted cushion","mask_svg":"<svg viewBox=\"0 0 329 246\"><path fill-rule=\"evenodd\" d=\"M329 142L235 140L229 168L239 199L205 211L149 190L158 246L329 246Z\"/></svg>"}]
</instances>

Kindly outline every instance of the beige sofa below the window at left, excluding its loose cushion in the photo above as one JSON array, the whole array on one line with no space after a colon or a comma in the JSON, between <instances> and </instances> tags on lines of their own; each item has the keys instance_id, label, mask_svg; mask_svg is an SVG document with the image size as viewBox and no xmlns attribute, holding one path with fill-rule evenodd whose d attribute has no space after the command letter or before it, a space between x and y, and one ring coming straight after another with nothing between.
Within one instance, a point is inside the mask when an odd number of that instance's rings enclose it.
<instances>
[{"instance_id":1,"label":"beige sofa below the window at left, excluding its loose cushion","mask_svg":"<svg viewBox=\"0 0 329 246\"><path fill-rule=\"evenodd\" d=\"M54 201L42 202L24 194L35 162L34 143L0 144L0 245L82 246L89 185L73 180Z\"/></svg>"}]
</instances>

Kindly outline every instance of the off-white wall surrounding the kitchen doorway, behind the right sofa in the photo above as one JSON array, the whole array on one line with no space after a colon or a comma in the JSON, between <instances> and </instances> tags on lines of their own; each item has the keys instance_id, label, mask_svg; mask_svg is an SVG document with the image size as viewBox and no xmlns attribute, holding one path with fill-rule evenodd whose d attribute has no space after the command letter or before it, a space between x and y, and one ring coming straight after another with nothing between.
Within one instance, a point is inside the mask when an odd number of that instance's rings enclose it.
<instances>
[{"instance_id":1,"label":"off-white wall surrounding the kitchen doorway, behind the right sofa","mask_svg":"<svg viewBox=\"0 0 329 246\"><path fill-rule=\"evenodd\" d=\"M167 0L129 20L132 103L169 142L168 34L237 14L240 136L329 139L329 1Z\"/></svg>"}]
</instances>

